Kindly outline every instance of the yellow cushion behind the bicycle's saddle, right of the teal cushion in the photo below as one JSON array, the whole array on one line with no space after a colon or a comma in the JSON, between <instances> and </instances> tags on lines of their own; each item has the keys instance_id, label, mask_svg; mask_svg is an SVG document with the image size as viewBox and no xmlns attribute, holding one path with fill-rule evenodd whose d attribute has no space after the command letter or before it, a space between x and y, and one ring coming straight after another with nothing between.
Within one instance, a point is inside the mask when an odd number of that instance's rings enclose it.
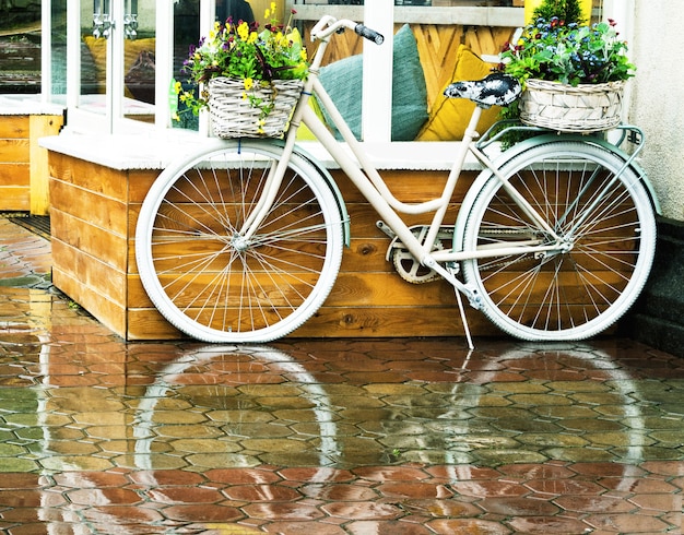
<instances>
[{"instance_id":1,"label":"yellow cushion behind the bicycle's saddle, right of the teal cushion","mask_svg":"<svg viewBox=\"0 0 684 535\"><path fill-rule=\"evenodd\" d=\"M449 82L443 87L441 93L435 100L429 111L429 118L418 133L416 141L460 141L463 139L470 116L475 108L475 103L467 98L448 98L444 96L444 88L452 82L465 80L481 80L490 74L492 66L483 61L465 45L461 45L457 51L456 66ZM492 106L484 109L477 131L483 133L494 124L498 118L500 108Z\"/></svg>"}]
</instances>

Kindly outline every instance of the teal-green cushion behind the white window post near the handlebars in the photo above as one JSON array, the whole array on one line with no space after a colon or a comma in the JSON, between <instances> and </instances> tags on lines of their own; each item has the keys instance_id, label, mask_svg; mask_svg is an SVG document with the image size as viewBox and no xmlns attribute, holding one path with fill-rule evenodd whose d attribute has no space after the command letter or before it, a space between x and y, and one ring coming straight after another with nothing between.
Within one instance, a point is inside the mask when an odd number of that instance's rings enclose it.
<instances>
[{"instance_id":1,"label":"teal-green cushion behind the white window post near the handlebars","mask_svg":"<svg viewBox=\"0 0 684 535\"><path fill-rule=\"evenodd\" d=\"M320 81L356 139L361 140L363 58L344 58L323 67ZM342 136L323 110L335 138ZM392 71L392 141L413 141L427 120L427 87L413 32L404 24L394 35Z\"/></svg>"}]
</instances>

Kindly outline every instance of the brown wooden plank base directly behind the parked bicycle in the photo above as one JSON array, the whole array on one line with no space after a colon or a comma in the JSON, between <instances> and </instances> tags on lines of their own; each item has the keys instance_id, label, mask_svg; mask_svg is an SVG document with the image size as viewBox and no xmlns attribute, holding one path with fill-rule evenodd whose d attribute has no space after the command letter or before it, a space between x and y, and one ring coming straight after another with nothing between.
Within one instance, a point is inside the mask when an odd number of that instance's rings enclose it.
<instances>
[{"instance_id":1,"label":"brown wooden plank base directly behind the parked bicycle","mask_svg":"<svg viewBox=\"0 0 684 535\"><path fill-rule=\"evenodd\" d=\"M81 145L72 152L119 152L113 151L110 141L97 145ZM166 148L173 154L173 146ZM154 154L140 143L131 147L135 150ZM135 265L138 213L158 169L135 168L134 163L114 168L64 154L68 152L63 146L49 151L54 284L127 340L181 337L152 306ZM121 150L120 154L131 152ZM157 165L163 166L163 162ZM340 276L325 306L291 336L463 334L451 286L443 281L424 285L404 282L385 260L389 239L376 227L374 211L344 177L339 177L340 171L333 174L352 217L351 248L344 252ZM392 170L387 176L397 197L405 201L436 194L446 179L445 171ZM467 174L456 199L462 197L473 177L474 173ZM451 212L457 207L455 202ZM418 222L414 217L414 223ZM470 311L469 317L475 334L494 332L479 312Z\"/></svg>"}]
</instances>

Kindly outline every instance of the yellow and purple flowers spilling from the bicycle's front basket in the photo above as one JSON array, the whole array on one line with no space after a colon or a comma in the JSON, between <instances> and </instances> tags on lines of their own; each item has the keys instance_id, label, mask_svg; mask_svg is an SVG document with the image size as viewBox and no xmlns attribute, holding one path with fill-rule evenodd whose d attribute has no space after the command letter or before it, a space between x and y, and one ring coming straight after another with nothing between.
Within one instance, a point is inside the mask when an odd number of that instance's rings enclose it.
<instances>
[{"instance_id":1,"label":"yellow and purple flowers spilling from the bicycle's front basket","mask_svg":"<svg viewBox=\"0 0 684 535\"><path fill-rule=\"evenodd\" d=\"M241 98L259 110L259 119L263 121L274 108L270 91L264 97L259 90L273 85L275 80L305 80L308 74L306 49L296 28L291 21L286 25L279 24L274 17L275 2L266 10L268 21L262 31L259 24L228 19L225 24L215 23L209 36L202 38L197 47L190 48L188 59L184 62L184 72L189 74L191 87L184 90L176 82L179 99L194 115L208 106L210 95L207 90L194 91L200 84L217 78L241 81L244 91Z\"/></svg>"}]
</instances>

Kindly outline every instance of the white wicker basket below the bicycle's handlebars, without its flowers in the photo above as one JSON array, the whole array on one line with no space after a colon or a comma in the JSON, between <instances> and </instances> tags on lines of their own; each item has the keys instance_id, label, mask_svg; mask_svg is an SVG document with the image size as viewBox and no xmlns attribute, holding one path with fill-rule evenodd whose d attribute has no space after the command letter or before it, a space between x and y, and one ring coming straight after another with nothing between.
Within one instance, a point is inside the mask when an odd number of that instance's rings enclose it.
<instances>
[{"instance_id":1,"label":"white wicker basket below the bicycle's handlebars, without its flowers","mask_svg":"<svg viewBox=\"0 0 684 535\"><path fill-rule=\"evenodd\" d=\"M304 82L300 80L274 80L269 85L255 82L248 94L264 103L273 103L271 112L262 118L261 109L245 98L243 80L211 79L207 90L214 135L223 139L282 136L303 87Z\"/></svg>"}]
</instances>

